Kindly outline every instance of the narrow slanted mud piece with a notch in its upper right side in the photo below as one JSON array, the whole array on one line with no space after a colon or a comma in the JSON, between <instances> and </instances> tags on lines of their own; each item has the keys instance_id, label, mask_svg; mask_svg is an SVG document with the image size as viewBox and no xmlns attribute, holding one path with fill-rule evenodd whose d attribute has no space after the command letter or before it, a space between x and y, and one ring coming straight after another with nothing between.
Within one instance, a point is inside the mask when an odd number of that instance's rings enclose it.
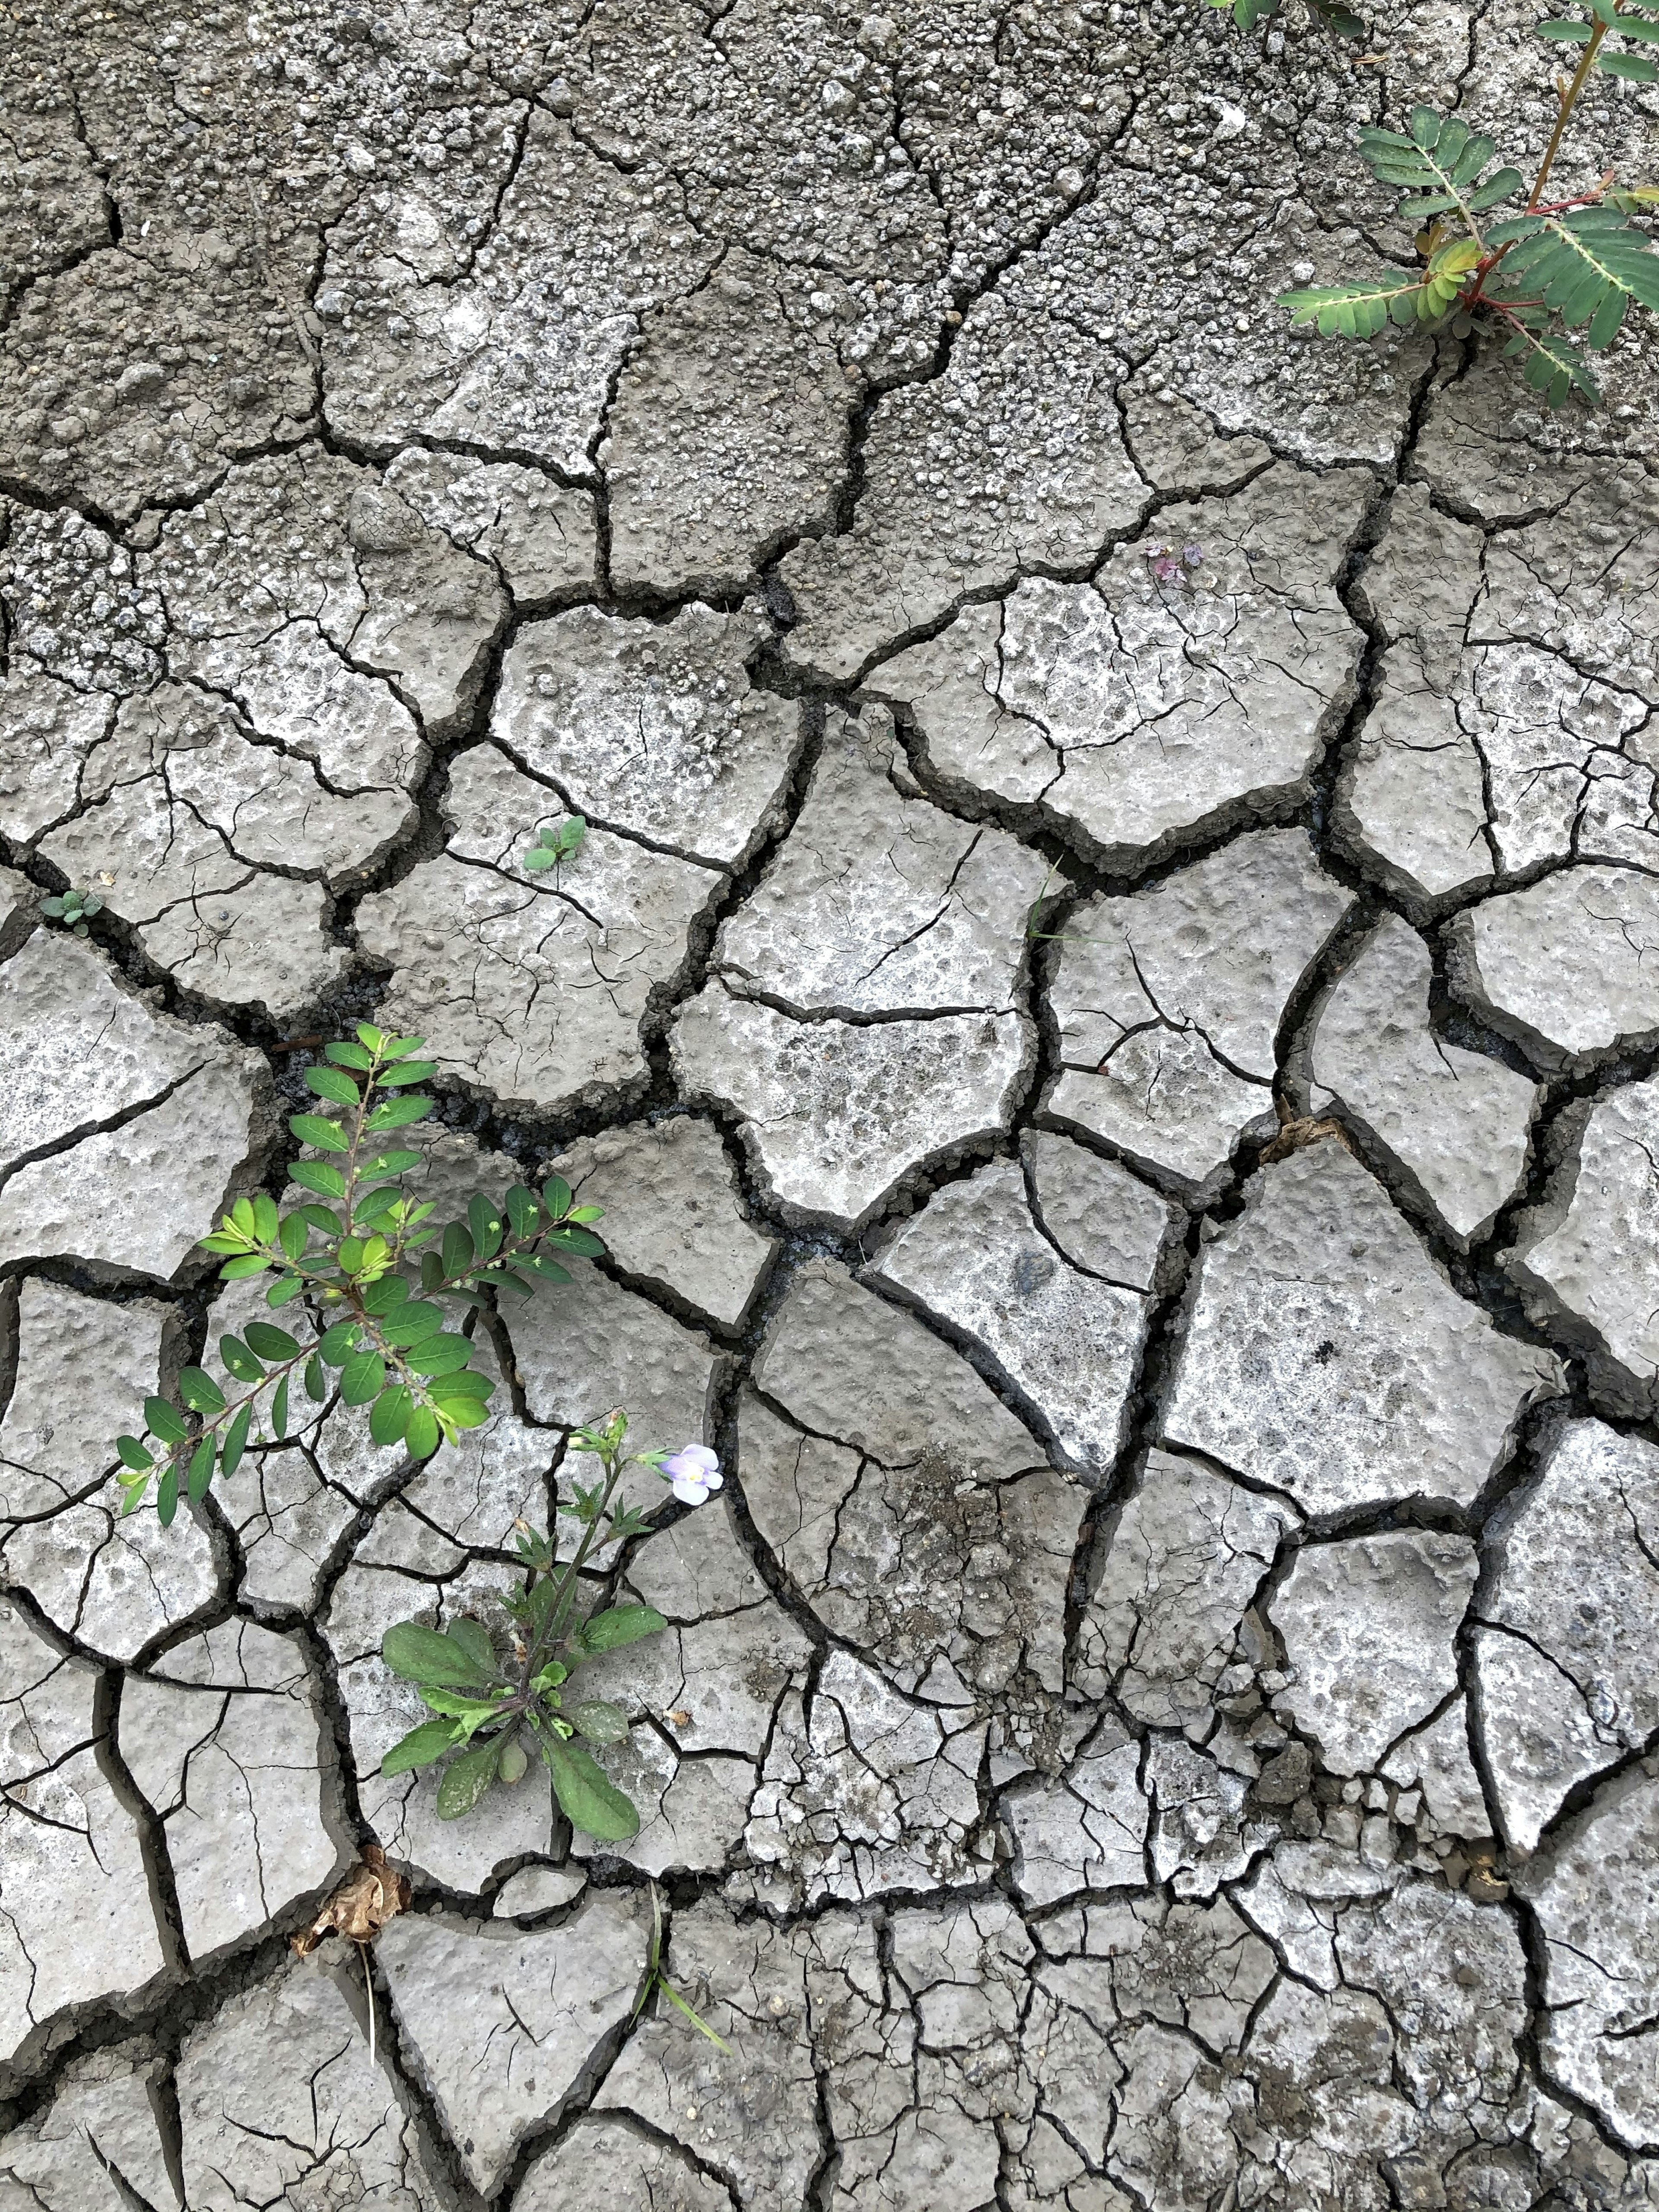
<instances>
[{"instance_id":1,"label":"narrow slanted mud piece with a notch in its upper right side","mask_svg":"<svg viewBox=\"0 0 1659 2212\"><path fill-rule=\"evenodd\" d=\"M1321 1006L1310 1064L1467 1250L1522 1179L1537 1086L1438 1037L1431 984L1429 947L1389 916Z\"/></svg>"}]
</instances>

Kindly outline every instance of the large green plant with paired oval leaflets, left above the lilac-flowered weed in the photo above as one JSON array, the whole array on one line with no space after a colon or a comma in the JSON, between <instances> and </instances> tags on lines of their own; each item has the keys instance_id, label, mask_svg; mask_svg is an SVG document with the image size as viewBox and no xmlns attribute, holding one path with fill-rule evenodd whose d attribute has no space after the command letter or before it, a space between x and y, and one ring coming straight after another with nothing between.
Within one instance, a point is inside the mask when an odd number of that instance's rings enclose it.
<instances>
[{"instance_id":1,"label":"large green plant with paired oval leaflets, left above the lilac-flowered weed","mask_svg":"<svg viewBox=\"0 0 1659 2212\"><path fill-rule=\"evenodd\" d=\"M190 1500L204 1498L215 1475L234 1475L250 1438L288 1436L294 1376L314 1405L336 1387L343 1405L367 1405L376 1444L427 1458L487 1420L495 1389L471 1365L471 1338L447 1327L456 1310L491 1292L526 1298L540 1283L568 1283L562 1259L604 1252L588 1228L602 1210L575 1206L557 1175L540 1192L515 1183L500 1203L478 1194L467 1219L442 1230L429 1219L434 1206L403 1190L420 1152L380 1150L394 1130L431 1115L431 1097L414 1086L436 1073L436 1062L416 1060L418 1051L420 1037L392 1037L361 1022L356 1037L330 1044L305 1068L307 1088L338 1113L290 1115L294 1137L325 1155L290 1170L310 1199L285 1212L263 1192L237 1199L201 1239L223 1259L223 1281L270 1274L268 1305L303 1301L305 1327L290 1334L250 1321L241 1336L219 1338L226 1385L204 1367L186 1367L177 1402L146 1398L146 1436L159 1451L135 1436L115 1440L122 1511L131 1513L155 1480L166 1524L179 1486ZM330 1383L330 1374L338 1380Z\"/></svg>"}]
</instances>

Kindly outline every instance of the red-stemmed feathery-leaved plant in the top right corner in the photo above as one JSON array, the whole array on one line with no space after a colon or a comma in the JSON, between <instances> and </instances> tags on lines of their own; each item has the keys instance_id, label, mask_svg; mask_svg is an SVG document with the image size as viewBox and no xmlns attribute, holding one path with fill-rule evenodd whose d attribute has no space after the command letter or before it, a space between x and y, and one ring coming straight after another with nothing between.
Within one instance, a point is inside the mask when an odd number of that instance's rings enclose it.
<instances>
[{"instance_id":1,"label":"red-stemmed feathery-leaved plant in the top right corner","mask_svg":"<svg viewBox=\"0 0 1659 2212\"><path fill-rule=\"evenodd\" d=\"M1630 301L1659 307L1659 257L1632 215L1659 206L1659 188L1619 188L1606 170L1588 190L1546 201L1555 157L1593 71L1632 84L1659 80L1646 53L1608 51L1613 33L1659 42L1659 0L1586 0L1588 20L1553 20L1540 35L1582 49L1571 80L1557 77L1557 113L1520 215L1484 221L1526 190L1517 168L1489 170L1498 144L1458 115L1413 108L1409 133L1360 131L1380 184L1407 192L1400 217L1418 228L1418 268L1283 292L1292 325L1323 336L1374 338L1389 323L1449 327L1453 336L1502 332L1504 356L1526 361L1526 383L1559 407L1599 392L1586 352L1613 343ZM1584 332L1573 343L1566 332Z\"/></svg>"}]
</instances>

